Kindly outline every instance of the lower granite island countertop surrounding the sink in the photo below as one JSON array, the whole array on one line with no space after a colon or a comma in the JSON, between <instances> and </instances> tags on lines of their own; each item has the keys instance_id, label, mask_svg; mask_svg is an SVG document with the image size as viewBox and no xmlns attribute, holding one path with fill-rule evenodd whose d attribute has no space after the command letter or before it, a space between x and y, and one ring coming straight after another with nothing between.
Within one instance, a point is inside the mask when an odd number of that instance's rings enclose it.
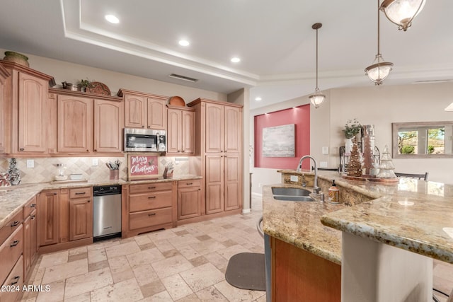
<instances>
[{"instance_id":1,"label":"lower granite island countertop surrounding the sink","mask_svg":"<svg viewBox=\"0 0 453 302\"><path fill-rule=\"evenodd\" d=\"M343 209L345 205L276 200L272 187L298 186L281 183L263 186L263 231L340 265L341 232L323 226L320 219L323 214Z\"/></svg>"}]
</instances>

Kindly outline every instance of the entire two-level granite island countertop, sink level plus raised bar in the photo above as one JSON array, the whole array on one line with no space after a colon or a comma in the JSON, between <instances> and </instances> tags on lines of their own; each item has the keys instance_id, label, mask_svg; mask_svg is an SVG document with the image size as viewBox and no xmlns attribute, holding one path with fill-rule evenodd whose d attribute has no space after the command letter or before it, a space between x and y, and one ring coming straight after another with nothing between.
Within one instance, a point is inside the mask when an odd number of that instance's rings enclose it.
<instances>
[{"instance_id":1,"label":"entire two-level granite island countertop, sink level plus raised bar","mask_svg":"<svg viewBox=\"0 0 453 302\"><path fill-rule=\"evenodd\" d=\"M334 179L340 190L347 188L372 200L352 207L285 202L273 199L272 186L265 186L263 231L338 264L340 231L453 263L453 185L408 178L399 182L347 180L329 171L319 172L318 178Z\"/></svg>"}]
</instances>

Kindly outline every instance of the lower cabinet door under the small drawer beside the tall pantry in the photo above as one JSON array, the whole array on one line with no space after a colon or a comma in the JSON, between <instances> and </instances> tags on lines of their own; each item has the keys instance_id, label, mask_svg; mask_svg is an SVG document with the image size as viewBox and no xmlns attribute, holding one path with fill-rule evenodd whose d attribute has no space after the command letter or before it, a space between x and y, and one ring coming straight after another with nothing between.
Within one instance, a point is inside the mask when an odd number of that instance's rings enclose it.
<instances>
[{"instance_id":1,"label":"lower cabinet door under the small drawer beside the tall pantry","mask_svg":"<svg viewBox=\"0 0 453 302\"><path fill-rule=\"evenodd\" d=\"M178 220L201 215L200 187L178 188Z\"/></svg>"}]
</instances>

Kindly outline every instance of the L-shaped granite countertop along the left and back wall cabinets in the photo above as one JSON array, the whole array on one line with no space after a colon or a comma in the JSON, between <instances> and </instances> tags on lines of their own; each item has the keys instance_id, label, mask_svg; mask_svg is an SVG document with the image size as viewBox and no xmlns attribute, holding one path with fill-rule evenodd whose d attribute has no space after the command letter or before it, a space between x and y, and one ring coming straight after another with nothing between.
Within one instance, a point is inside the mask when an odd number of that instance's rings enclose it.
<instances>
[{"instance_id":1,"label":"L-shaped granite countertop along the left and back wall cabinets","mask_svg":"<svg viewBox=\"0 0 453 302\"><path fill-rule=\"evenodd\" d=\"M154 180L101 180L91 182L42 182L35 184L0 187L0 228L9 219L21 211L23 205L42 190L58 190L71 187L93 187L95 185L133 185L149 182L171 182L178 180L200 179L197 175L178 175L173 178L156 178Z\"/></svg>"}]
</instances>

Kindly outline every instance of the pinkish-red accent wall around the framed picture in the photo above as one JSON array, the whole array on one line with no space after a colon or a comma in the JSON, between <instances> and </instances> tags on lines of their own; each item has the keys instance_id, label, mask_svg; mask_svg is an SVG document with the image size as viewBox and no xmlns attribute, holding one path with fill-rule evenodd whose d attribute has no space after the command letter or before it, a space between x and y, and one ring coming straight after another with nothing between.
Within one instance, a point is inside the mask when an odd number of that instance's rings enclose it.
<instances>
[{"instance_id":1,"label":"pinkish-red accent wall around the framed picture","mask_svg":"<svg viewBox=\"0 0 453 302\"><path fill-rule=\"evenodd\" d=\"M255 117L255 167L296 169L302 156L310 153L310 105L302 105ZM263 128L284 124L295 124L295 156L263 157ZM310 162L304 161L303 169L310 169Z\"/></svg>"}]
</instances>

